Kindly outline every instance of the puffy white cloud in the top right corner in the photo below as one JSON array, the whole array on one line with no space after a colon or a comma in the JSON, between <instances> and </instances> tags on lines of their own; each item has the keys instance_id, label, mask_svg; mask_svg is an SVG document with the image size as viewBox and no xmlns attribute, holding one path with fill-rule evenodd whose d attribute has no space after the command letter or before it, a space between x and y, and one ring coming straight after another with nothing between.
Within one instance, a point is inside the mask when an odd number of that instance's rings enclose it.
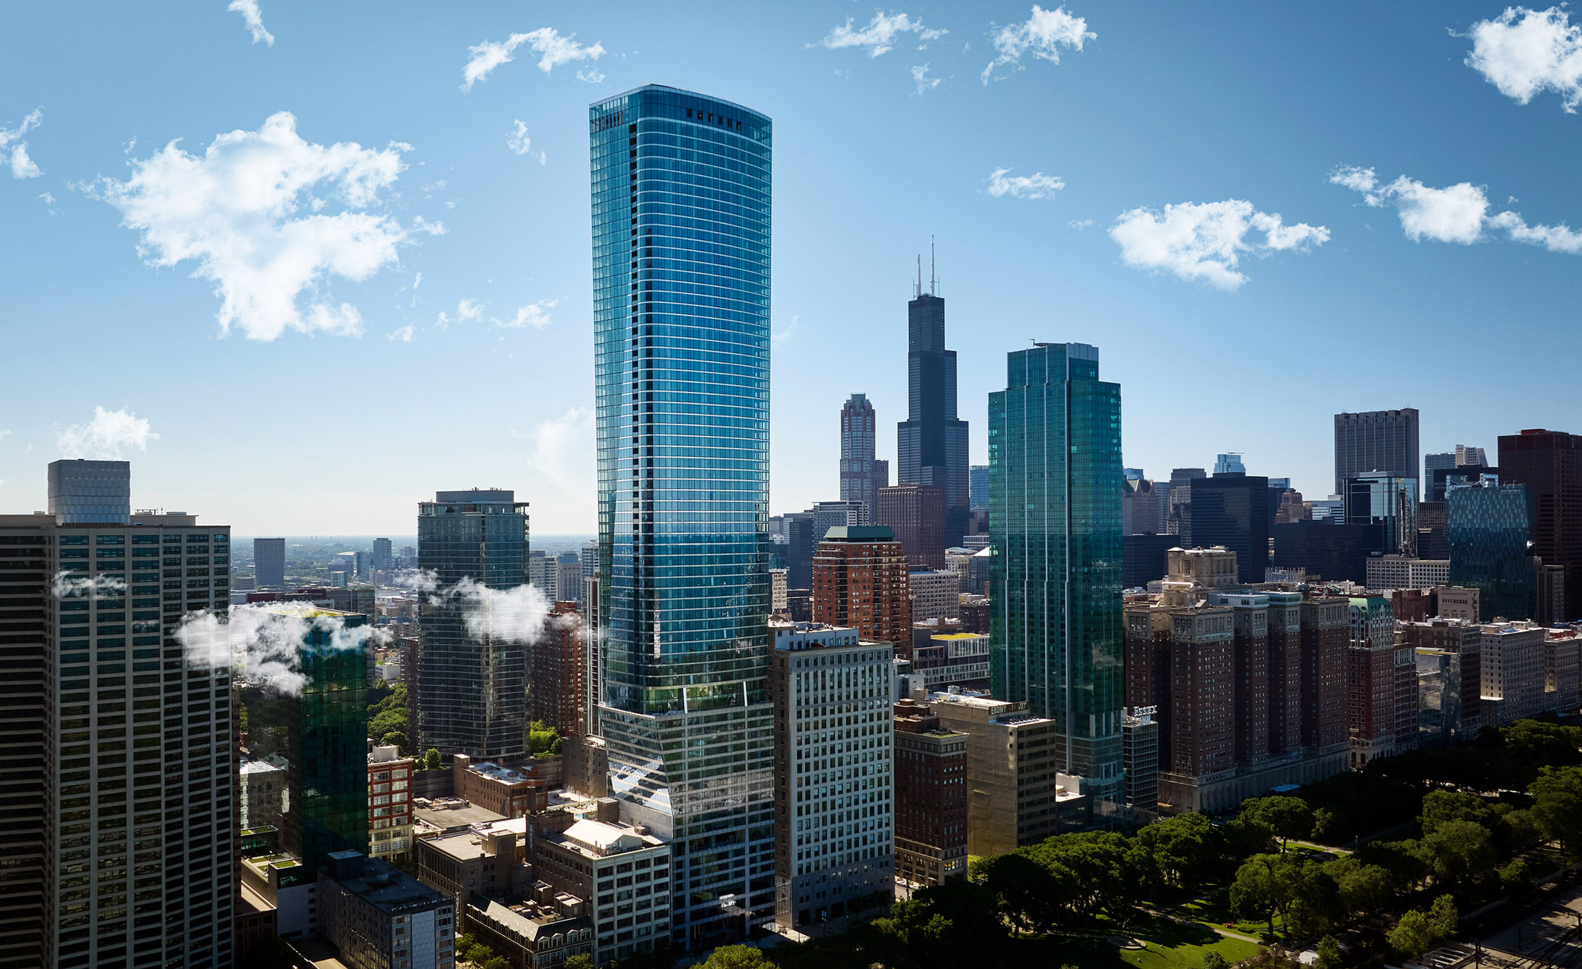
<instances>
[{"instance_id":1,"label":"puffy white cloud in the top right corner","mask_svg":"<svg viewBox=\"0 0 1582 969\"><path fill-rule=\"evenodd\" d=\"M1492 21L1478 21L1463 35L1473 41L1467 66L1517 104L1552 90L1566 112L1582 104L1582 25L1550 6L1508 6Z\"/></svg>"}]
</instances>

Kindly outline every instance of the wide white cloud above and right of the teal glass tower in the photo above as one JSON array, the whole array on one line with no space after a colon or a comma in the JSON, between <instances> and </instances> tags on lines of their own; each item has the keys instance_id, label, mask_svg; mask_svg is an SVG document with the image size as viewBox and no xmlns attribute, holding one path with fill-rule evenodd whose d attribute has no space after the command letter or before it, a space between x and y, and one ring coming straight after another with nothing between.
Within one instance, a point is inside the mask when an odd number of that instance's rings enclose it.
<instances>
[{"instance_id":1,"label":"wide white cloud above and right of the teal glass tower","mask_svg":"<svg viewBox=\"0 0 1582 969\"><path fill-rule=\"evenodd\" d=\"M1264 239L1248 240L1262 232ZM1247 277L1237 272L1242 255L1305 251L1329 242L1329 229L1307 223L1285 224L1280 215L1258 212L1251 202L1182 202L1164 212L1133 209L1109 229L1120 258L1134 269L1168 270L1190 281L1237 289Z\"/></svg>"}]
</instances>

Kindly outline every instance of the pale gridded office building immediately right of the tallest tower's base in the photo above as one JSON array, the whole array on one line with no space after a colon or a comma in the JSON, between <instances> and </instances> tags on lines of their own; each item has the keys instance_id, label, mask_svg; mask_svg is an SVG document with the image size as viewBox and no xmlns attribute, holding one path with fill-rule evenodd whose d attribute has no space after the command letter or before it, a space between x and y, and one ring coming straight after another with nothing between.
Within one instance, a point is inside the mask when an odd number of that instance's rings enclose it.
<instances>
[{"instance_id":1,"label":"pale gridded office building immediately right of the tallest tower's base","mask_svg":"<svg viewBox=\"0 0 1582 969\"><path fill-rule=\"evenodd\" d=\"M894 650L850 628L770 629L775 923L813 934L895 899Z\"/></svg>"}]
</instances>

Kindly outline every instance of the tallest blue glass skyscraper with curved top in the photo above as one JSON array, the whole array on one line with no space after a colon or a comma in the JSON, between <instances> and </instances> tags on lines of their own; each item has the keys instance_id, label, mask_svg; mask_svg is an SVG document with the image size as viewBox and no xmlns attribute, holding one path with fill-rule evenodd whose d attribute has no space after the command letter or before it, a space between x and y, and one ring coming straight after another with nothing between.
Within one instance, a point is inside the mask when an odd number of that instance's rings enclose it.
<instances>
[{"instance_id":1,"label":"tallest blue glass skyscraper with curved top","mask_svg":"<svg viewBox=\"0 0 1582 969\"><path fill-rule=\"evenodd\" d=\"M598 721L611 794L676 844L671 923L634 931L696 948L775 907L770 122L660 85L589 120Z\"/></svg>"}]
</instances>

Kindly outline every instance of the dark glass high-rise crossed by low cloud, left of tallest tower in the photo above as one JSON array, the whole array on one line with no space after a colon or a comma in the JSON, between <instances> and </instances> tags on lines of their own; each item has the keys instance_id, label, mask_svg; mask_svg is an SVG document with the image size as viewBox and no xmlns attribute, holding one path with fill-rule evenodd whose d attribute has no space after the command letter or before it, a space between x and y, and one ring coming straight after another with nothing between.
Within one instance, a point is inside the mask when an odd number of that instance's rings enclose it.
<instances>
[{"instance_id":1,"label":"dark glass high-rise crossed by low cloud, left of tallest tower","mask_svg":"<svg viewBox=\"0 0 1582 969\"><path fill-rule=\"evenodd\" d=\"M437 492L418 504L418 567L433 574L422 591L418 653L418 746L471 757L525 752L527 650L495 635L511 624L513 599L483 612L464 580L489 590L527 583L527 503L508 490Z\"/></svg>"}]
</instances>

